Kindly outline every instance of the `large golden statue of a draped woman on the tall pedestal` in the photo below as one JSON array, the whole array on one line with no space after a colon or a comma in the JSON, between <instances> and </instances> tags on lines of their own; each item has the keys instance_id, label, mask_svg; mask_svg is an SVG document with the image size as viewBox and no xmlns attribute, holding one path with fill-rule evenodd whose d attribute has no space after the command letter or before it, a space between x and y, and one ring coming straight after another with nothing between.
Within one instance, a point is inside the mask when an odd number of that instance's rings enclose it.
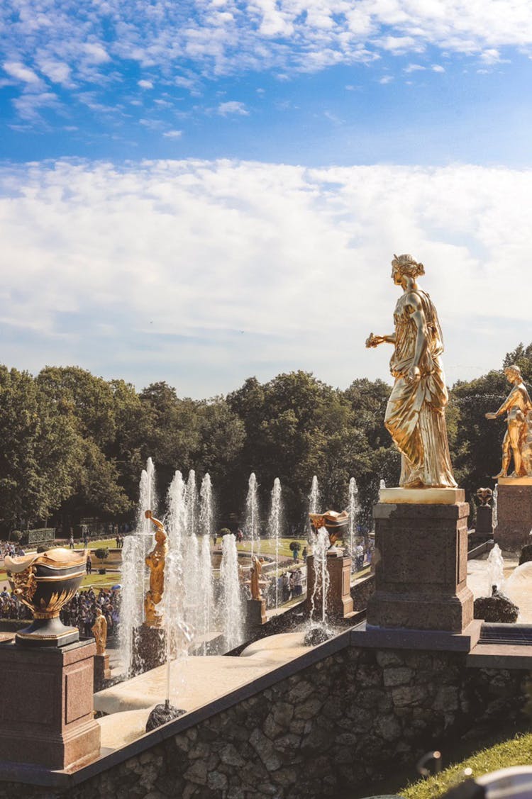
<instances>
[{"instance_id":1,"label":"large golden statue of a draped woman on the tall pedestal","mask_svg":"<svg viewBox=\"0 0 532 799\"><path fill-rule=\"evenodd\" d=\"M454 488L445 420L443 337L436 308L416 282L424 274L423 264L412 256L394 256L392 280L402 288L394 311L395 332L370 333L366 347L394 345L390 372L395 382L384 423L402 455L399 485Z\"/></svg>"}]
</instances>

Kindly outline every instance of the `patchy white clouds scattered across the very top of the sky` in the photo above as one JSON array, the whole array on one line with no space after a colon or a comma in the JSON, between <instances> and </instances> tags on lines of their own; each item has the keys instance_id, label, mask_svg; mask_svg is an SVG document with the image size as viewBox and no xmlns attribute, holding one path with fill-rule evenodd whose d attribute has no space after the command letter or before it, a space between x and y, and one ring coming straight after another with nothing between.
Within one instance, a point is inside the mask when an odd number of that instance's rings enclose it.
<instances>
[{"instance_id":1,"label":"patchy white clouds scattered across the very top of the sky","mask_svg":"<svg viewBox=\"0 0 532 799\"><path fill-rule=\"evenodd\" d=\"M105 0L86 10L73 0L4 0L0 28L10 31L8 74L26 85L38 85L41 69L50 80L84 84L85 91L102 81L126 84L133 60L154 81L171 80L196 93L205 78L251 70L282 80L429 48L492 65L504 60L504 48L526 52L532 46L532 3ZM138 81L146 89L151 82Z\"/></svg>"}]
</instances>

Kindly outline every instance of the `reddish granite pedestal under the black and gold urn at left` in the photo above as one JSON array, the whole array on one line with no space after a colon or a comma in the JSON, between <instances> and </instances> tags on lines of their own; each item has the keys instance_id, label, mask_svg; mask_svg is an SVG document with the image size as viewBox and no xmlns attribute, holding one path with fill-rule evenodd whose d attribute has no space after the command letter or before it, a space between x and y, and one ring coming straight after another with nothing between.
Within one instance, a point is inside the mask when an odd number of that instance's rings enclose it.
<instances>
[{"instance_id":1,"label":"reddish granite pedestal under the black and gold urn at left","mask_svg":"<svg viewBox=\"0 0 532 799\"><path fill-rule=\"evenodd\" d=\"M94 641L33 649L0 644L0 761L78 767L100 753Z\"/></svg>"}]
</instances>

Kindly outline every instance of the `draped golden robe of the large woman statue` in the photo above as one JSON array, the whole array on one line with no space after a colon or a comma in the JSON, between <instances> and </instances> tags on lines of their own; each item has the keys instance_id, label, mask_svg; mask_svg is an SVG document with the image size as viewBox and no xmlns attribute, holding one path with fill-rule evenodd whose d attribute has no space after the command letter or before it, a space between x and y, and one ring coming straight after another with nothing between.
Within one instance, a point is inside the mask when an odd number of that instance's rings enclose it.
<instances>
[{"instance_id":1,"label":"draped golden robe of the large woman statue","mask_svg":"<svg viewBox=\"0 0 532 799\"><path fill-rule=\"evenodd\" d=\"M426 321L426 348L418 364L421 379L407 383L405 376L414 363L418 328L403 294L394 312L395 348L390 372L395 378L386 406L385 424L402 454L403 487L456 487L450 464L445 420L448 401L440 356L443 352L442 330L436 308L420 289Z\"/></svg>"}]
</instances>

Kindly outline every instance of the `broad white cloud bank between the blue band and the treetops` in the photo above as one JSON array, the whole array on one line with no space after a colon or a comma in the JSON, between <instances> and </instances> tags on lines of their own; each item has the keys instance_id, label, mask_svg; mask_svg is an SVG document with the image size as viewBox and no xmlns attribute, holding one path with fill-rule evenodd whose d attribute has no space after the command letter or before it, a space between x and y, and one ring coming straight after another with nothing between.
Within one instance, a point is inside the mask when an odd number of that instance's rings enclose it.
<instances>
[{"instance_id":1,"label":"broad white cloud bank between the blue band and the treetops","mask_svg":"<svg viewBox=\"0 0 532 799\"><path fill-rule=\"evenodd\" d=\"M292 368L343 386L386 377L386 352L364 340L390 332L390 260L412 252L448 379L478 376L530 340L529 294L514 287L529 275L531 199L532 170L478 166L4 166L2 360L194 396ZM334 303L320 324L316 297Z\"/></svg>"}]
</instances>

